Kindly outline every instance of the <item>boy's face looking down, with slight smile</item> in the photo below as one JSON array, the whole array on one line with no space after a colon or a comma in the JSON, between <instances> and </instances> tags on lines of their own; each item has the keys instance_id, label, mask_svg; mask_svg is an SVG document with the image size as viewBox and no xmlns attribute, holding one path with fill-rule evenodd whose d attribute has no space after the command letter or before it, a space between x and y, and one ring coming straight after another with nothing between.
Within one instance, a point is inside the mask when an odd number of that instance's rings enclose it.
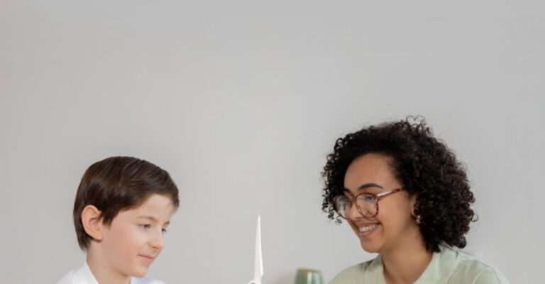
<instances>
[{"instance_id":1,"label":"boy's face looking down, with slight smile","mask_svg":"<svg viewBox=\"0 0 545 284\"><path fill-rule=\"evenodd\" d=\"M119 212L104 227L101 251L112 271L143 277L163 249L163 233L175 211L170 198L153 194L138 208Z\"/></svg>"}]
</instances>

